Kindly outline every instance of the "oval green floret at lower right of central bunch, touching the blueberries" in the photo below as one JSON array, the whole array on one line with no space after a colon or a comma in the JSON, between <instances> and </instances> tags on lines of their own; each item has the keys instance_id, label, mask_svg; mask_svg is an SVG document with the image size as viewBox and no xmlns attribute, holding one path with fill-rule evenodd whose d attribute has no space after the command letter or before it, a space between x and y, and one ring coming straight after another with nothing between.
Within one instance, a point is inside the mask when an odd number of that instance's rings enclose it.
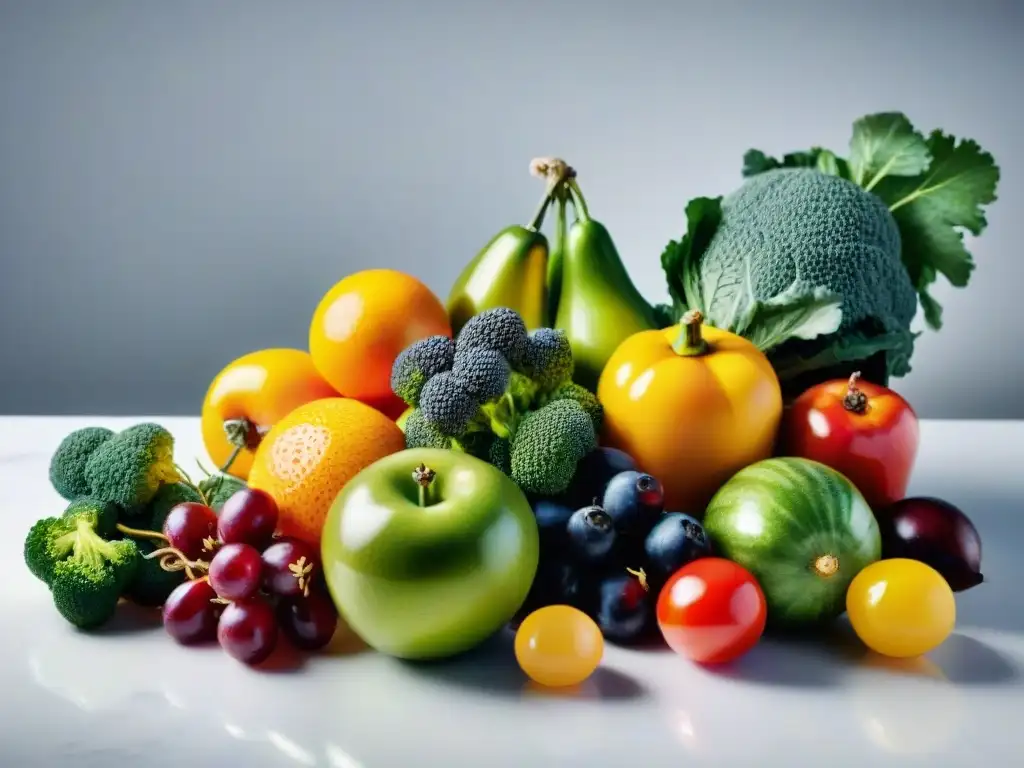
<instances>
[{"instance_id":1,"label":"oval green floret at lower right of central bunch, touching the blueberries","mask_svg":"<svg viewBox=\"0 0 1024 768\"><path fill-rule=\"evenodd\" d=\"M512 440L510 475L527 494L568 487L577 464L597 446L594 423L572 399L553 400L523 417Z\"/></svg>"}]
</instances>

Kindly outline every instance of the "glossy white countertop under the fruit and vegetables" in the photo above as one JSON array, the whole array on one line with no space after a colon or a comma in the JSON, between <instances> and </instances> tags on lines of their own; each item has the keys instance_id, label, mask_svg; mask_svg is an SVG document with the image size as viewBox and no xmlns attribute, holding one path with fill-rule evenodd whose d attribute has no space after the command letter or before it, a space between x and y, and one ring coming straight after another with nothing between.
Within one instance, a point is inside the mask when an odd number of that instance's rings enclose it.
<instances>
[{"instance_id":1,"label":"glossy white countertop under the fruit and vegetables","mask_svg":"<svg viewBox=\"0 0 1024 768\"><path fill-rule=\"evenodd\" d=\"M0 765L937 768L1024 755L1024 422L922 427L910 494L972 517L986 577L957 596L956 632L928 657L766 640L712 673L608 647L566 696L526 685L504 638L431 666L339 647L256 672L130 612L76 632L25 567L24 536L63 508L47 464L67 432L143 420L174 433L183 466L205 459L196 419L0 418Z\"/></svg>"}]
</instances>

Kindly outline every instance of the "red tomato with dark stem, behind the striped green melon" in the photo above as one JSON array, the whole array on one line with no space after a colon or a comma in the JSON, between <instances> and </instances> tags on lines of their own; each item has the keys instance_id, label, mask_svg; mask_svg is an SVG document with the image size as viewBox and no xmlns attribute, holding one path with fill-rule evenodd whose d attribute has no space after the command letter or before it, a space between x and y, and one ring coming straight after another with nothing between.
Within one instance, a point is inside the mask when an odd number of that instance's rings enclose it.
<instances>
[{"instance_id":1,"label":"red tomato with dark stem, behind the striped green melon","mask_svg":"<svg viewBox=\"0 0 1024 768\"><path fill-rule=\"evenodd\" d=\"M783 417L780 447L846 475L878 510L906 496L918 443L910 404L854 374L801 394Z\"/></svg>"}]
</instances>

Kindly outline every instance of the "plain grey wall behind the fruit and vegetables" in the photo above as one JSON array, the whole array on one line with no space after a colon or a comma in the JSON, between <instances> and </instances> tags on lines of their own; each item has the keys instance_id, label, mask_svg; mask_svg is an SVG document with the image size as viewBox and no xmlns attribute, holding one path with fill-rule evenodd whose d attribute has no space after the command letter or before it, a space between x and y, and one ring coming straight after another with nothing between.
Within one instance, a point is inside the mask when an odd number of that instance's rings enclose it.
<instances>
[{"instance_id":1,"label":"plain grey wall behind the fruit and vegetables","mask_svg":"<svg viewBox=\"0 0 1024 768\"><path fill-rule=\"evenodd\" d=\"M898 109L1002 169L972 284L897 382L1024 417L1024 3L0 0L0 413L198 413L347 272L442 296L580 169L636 283L750 146Z\"/></svg>"}]
</instances>

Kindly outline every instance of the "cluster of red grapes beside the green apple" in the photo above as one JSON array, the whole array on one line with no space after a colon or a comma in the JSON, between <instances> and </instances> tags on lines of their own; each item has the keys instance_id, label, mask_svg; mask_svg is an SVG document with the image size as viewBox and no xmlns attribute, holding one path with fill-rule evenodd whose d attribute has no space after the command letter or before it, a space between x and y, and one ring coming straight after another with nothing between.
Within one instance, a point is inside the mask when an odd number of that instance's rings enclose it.
<instances>
[{"instance_id":1,"label":"cluster of red grapes beside the green apple","mask_svg":"<svg viewBox=\"0 0 1024 768\"><path fill-rule=\"evenodd\" d=\"M259 665L281 636L302 650L327 645L338 625L316 548L274 536L278 505L243 488L221 508L186 502L164 522L168 549L195 566L164 603L167 633L183 645L216 641L232 657ZM203 575L202 570L208 572Z\"/></svg>"}]
</instances>

